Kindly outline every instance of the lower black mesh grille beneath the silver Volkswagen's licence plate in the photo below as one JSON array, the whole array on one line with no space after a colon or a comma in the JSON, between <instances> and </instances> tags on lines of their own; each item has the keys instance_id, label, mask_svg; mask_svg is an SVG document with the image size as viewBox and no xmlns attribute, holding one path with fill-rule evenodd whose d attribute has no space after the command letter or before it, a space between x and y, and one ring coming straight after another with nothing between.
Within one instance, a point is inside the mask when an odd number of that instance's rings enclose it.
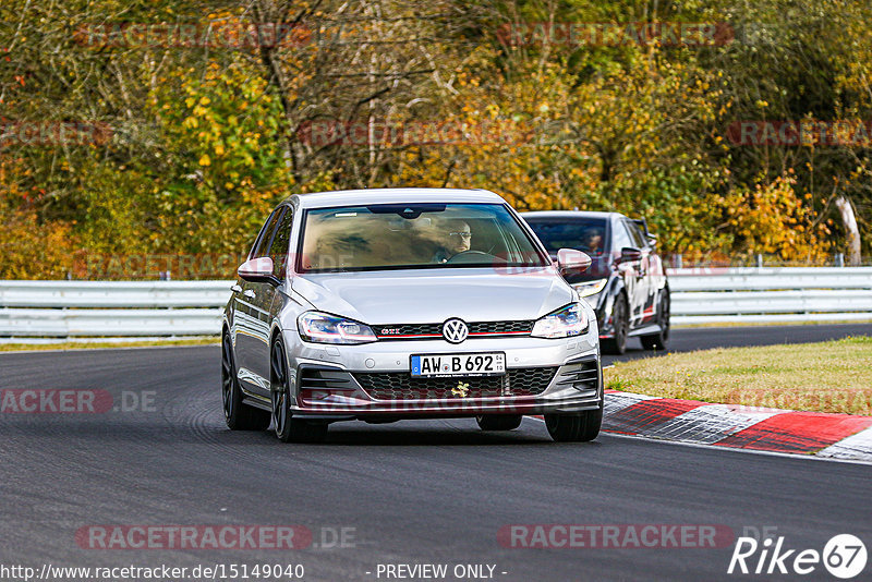
<instances>
[{"instance_id":1,"label":"lower black mesh grille beneath the silver Volkswagen's licence plate","mask_svg":"<svg viewBox=\"0 0 872 582\"><path fill-rule=\"evenodd\" d=\"M536 396L545 391L557 367L521 367L505 376L413 378L408 372L358 373L354 379L375 400L435 400ZM468 385L460 397L458 385Z\"/></svg>"}]
</instances>

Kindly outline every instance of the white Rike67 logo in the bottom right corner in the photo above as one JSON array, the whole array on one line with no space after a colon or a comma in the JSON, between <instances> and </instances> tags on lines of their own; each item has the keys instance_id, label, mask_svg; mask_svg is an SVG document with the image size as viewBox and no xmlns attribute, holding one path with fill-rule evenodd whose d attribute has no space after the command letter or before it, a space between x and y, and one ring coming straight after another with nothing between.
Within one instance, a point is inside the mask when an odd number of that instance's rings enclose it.
<instances>
[{"instance_id":1,"label":"white Rike67 logo in the bottom right corner","mask_svg":"<svg viewBox=\"0 0 872 582\"><path fill-rule=\"evenodd\" d=\"M788 549L785 537L771 537L758 542L753 537L739 537L729 560L727 573L741 574L810 574L823 567L836 578L855 578L865 568L865 545L851 534L833 536L823 551L816 549Z\"/></svg>"}]
</instances>

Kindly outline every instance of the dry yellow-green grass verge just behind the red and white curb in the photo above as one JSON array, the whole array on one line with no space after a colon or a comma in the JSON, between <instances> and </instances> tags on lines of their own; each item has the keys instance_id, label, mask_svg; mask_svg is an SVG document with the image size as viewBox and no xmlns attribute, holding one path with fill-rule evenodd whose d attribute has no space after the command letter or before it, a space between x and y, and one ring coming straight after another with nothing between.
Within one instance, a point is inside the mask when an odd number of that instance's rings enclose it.
<instances>
[{"instance_id":1,"label":"dry yellow-green grass verge just behind the red and white curb","mask_svg":"<svg viewBox=\"0 0 872 582\"><path fill-rule=\"evenodd\" d=\"M616 363L606 387L663 398L872 415L872 337Z\"/></svg>"}]
</instances>

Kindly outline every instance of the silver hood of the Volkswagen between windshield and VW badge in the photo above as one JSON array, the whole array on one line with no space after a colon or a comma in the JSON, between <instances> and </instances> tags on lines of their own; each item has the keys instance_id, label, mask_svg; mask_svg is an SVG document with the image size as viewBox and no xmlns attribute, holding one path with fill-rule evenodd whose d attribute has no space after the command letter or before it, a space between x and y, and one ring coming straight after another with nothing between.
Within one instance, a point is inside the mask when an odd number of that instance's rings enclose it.
<instances>
[{"instance_id":1,"label":"silver hood of the Volkswagen between windshield and VW badge","mask_svg":"<svg viewBox=\"0 0 872 582\"><path fill-rule=\"evenodd\" d=\"M537 319L573 298L550 267L306 274L292 288L317 310L370 325Z\"/></svg>"}]
</instances>

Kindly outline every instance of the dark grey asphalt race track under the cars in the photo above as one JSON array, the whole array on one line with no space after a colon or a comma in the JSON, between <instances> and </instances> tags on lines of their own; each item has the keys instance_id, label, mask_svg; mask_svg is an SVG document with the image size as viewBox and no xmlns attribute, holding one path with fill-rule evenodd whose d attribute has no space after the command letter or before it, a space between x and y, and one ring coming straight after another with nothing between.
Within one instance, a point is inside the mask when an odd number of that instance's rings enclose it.
<instances>
[{"instance_id":1,"label":"dark grey asphalt race track under the cars","mask_svg":"<svg viewBox=\"0 0 872 582\"><path fill-rule=\"evenodd\" d=\"M862 332L872 326L678 330L674 347ZM731 543L504 547L498 532L512 524L716 524L736 536L775 528L785 548L820 551L833 535L851 533L872 549L869 465L605 434L592 444L555 444L533 419L506 435L481 433L468 420L344 423L325 445L282 445L268 433L226 428L218 365L217 347L0 355L0 389L107 390L114 407L133 409L0 414L0 579L14 580L2 574L13 565L264 562L303 565L304 580L398 579L377 577L379 563L446 563L449 573L456 565L491 565L505 581L737 578L726 573ZM314 544L81 547L76 531L97 524L301 525ZM342 528L346 547L337 547ZM834 580L820 565L803 578Z\"/></svg>"}]
</instances>

